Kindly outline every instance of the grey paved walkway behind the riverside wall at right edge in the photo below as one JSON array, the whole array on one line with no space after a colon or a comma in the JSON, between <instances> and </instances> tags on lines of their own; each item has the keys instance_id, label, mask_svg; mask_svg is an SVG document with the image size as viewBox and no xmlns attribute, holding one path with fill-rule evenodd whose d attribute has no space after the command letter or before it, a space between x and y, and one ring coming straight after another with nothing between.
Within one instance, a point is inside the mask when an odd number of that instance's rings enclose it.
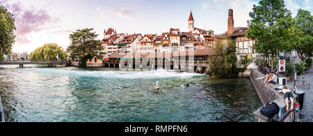
<instances>
[{"instance_id":1,"label":"grey paved walkway behind the riverside wall at right edge","mask_svg":"<svg viewBox=\"0 0 313 136\"><path fill-rule=\"evenodd\" d=\"M310 82L310 90L305 90L303 88L297 88L298 90L303 90L305 92L305 107L300 111L300 121L302 122L313 122L313 68L303 74L305 78ZM287 87L289 89L294 88L294 79L290 79L287 82Z\"/></svg>"}]
</instances>

